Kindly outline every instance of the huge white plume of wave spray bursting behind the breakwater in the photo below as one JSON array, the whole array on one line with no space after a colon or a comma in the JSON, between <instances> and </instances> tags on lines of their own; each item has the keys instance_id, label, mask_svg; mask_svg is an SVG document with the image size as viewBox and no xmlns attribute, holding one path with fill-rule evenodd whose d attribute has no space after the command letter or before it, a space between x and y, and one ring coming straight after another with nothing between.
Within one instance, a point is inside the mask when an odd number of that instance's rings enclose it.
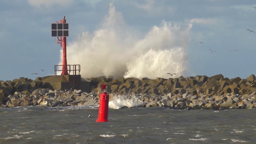
<instances>
[{"instance_id":1,"label":"huge white plume of wave spray bursting behind the breakwater","mask_svg":"<svg viewBox=\"0 0 256 144\"><path fill-rule=\"evenodd\" d=\"M108 15L94 32L82 32L67 45L68 64L80 64L81 76L95 78L169 78L188 68L187 49L191 23L162 20L148 32L127 26L120 12L110 4ZM60 50L62 64L62 49Z\"/></svg>"}]
</instances>

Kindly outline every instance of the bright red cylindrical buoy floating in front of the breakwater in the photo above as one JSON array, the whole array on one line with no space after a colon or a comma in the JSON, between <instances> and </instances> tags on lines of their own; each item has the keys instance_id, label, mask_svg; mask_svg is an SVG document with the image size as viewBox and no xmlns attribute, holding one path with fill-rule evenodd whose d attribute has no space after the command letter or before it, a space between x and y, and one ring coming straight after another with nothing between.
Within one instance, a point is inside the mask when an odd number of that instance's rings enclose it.
<instances>
[{"instance_id":1,"label":"bright red cylindrical buoy floating in front of the breakwater","mask_svg":"<svg viewBox=\"0 0 256 144\"><path fill-rule=\"evenodd\" d=\"M100 94L99 117L96 122L108 122L108 98L109 95L104 91L106 84L102 84L102 94Z\"/></svg>"}]
</instances>

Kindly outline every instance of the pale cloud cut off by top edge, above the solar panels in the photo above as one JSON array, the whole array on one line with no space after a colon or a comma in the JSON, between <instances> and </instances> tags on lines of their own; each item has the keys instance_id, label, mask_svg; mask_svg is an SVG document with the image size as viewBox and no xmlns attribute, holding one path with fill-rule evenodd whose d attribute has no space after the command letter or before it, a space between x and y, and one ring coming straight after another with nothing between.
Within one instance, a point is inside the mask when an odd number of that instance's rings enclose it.
<instances>
[{"instance_id":1,"label":"pale cloud cut off by top edge, above the solar panels","mask_svg":"<svg viewBox=\"0 0 256 144\"><path fill-rule=\"evenodd\" d=\"M46 7L50 8L54 5L59 5L59 6L69 6L72 4L74 0L28 0L28 3L31 6L35 7Z\"/></svg>"}]
</instances>

